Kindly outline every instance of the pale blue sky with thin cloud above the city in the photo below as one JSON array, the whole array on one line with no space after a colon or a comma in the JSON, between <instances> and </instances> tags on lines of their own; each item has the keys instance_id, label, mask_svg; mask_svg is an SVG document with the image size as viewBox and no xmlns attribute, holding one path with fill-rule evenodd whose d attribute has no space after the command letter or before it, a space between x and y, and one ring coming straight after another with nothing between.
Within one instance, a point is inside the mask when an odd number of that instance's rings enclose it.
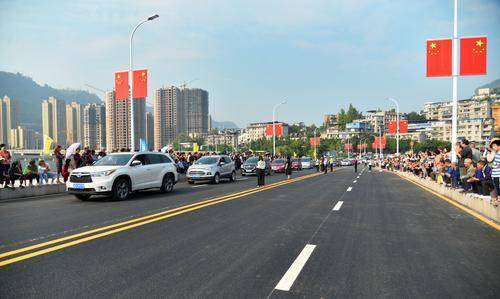
<instances>
[{"instance_id":1,"label":"pale blue sky with thin cloud above the city","mask_svg":"<svg viewBox=\"0 0 500 299\"><path fill-rule=\"evenodd\" d=\"M500 78L500 1L459 2L459 34L489 38L488 75L461 77L465 98ZM134 39L149 94L197 78L219 121L270 120L285 98L280 120L319 124L349 103L390 108L390 96L411 111L451 97L450 78L425 77L425 40L452 35L452 0L0 0L0 69L112 89L113 73L128 68L130 31L154 13Z\"/></svg>"}]
</instances>

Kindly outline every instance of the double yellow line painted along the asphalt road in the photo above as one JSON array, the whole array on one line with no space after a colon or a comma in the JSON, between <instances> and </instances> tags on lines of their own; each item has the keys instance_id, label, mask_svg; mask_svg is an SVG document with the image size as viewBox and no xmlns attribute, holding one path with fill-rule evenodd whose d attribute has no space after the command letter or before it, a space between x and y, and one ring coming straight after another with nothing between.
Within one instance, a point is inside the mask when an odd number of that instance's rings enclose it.
<instances>
[{"instance_id":1,"label":"double yellow line painted along the asphalt road","mask_svg":"<svg viewBox=\"0 0 500 299\"><path fill-rule=\"evenodd\" d=\"M73 234L73 235L69 235L66 237L50 240L47 242L34 244L31 246L19 248L19 249L12 250L12 251L3 252L3 253L0 253L0 267L6 266L6 265L9 265L12 263L20 262L20 261L23 261L26 259L30 259L30 258L39 256L39 255L43 255L43 254L47 254L47 253L54 252L57 250L61 250L61 249L67 248L67 247L75 246L75 245L78 245L81 243L89 242L89 241L92 241L95 239L103 238L103 237L106 237L109 235L117 234L119 232L130 230L130 229L140 227L140 226L143 226L146 224L150 224L153 222L165 220L165 219L177 216L177 215L189 213L189 212L196 211L196 210L199 210L199 209L202 209L205 207L209 207L209 206L220 204L220 203L223 203L226 201L234 200L234 199L237 199L237 198L240 198L243 196L248 196L248 195L262 192L265 190L269 190L269 189L273 189L273 188L280 187L283 185L302 181L302 180L312 178L312 177L315 177L318 175L320 175L320 173L313 173L313 174L293 178L290 180L284 180L284 181L280 181L277 183L269 184L269 185L266 185L263 187L247 189L247 190L243 190L240 192L231 193L231 194L227 194L224 196L216 197L213 199L208 199L208 200L200 201L197 203L185 205L185 206L178 207L175 209L170 209L167 211L150 214L147 216L135 218L135 219L128 220L128 221L118 222L118 223L115 223L112 225L103 226L103 227L99 227L96 229L91 229L91 230L84 231L84 232L81 232L78 234ZM8 258L8 257L10 257L10 258ZM7 259L5 259L5 258L7 258Z\"/></svg>"}]
</instances>

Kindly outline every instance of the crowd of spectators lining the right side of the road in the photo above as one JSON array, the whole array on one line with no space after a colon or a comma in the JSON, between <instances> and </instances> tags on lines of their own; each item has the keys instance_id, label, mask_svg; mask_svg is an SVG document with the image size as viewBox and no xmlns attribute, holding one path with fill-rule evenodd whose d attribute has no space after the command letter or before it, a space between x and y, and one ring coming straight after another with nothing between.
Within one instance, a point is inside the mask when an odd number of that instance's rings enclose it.
<instances>
[{"instance_id":1,"label":"crowd of spectators lining the right side of the road","mask_svg":"<svg viewBox=\"0 0 500 299\"><path fill-rule=\"evenodd\" d=\"M462 139L455 145L455 152L456 159L452 159L451 151L446 148L392 156L381 160L380 166L388 170L411 172L460 192L475 193L498 206L500 138L492 139L487 147L481 149Z\"/></svg>"}]
</instances>

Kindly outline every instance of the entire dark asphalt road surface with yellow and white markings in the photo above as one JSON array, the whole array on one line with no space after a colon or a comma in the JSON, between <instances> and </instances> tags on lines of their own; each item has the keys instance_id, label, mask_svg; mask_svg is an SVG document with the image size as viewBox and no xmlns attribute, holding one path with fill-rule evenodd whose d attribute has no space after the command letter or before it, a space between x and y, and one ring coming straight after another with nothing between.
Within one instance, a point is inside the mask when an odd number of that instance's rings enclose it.
<instances>
[{"instance_id":1,"label":"entire dark asphalt road surface with yellow and white markings","mask_svg":"<svg viewBox=\"0 0 500 299\"><path fill-rule=\"evenodd\" d=\"M0 201L0 298L499 298L500 232L352 167Z\"/></svg>"}]
</instances>

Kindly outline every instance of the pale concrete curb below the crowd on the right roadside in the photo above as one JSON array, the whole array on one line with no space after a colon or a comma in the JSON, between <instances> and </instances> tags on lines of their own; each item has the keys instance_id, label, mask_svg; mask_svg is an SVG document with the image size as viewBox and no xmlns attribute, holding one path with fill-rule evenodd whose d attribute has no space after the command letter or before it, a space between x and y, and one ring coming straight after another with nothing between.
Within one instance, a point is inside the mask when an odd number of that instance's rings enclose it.
<instances>
[{"instance_id":1,"label":"pale concrete curb below the crowd on the right roadside","mask_svg":"<svg viewBox=\"0 0 500 299\"><path fill-rule=\"evenodd\" d=\"M488 219L500 223L500 206L495 207L493 206L489 200L485 200L481 197L475 196L474 194L470 193L460 193L454 189L445 187L443 185L438 185L434 181L427 180L427 179L422 179L419 177L416 177L413 174L406 173L406 172L397 172L398 175L401 177L404 177L406 179L409 179L412 182L415 182L419 185L422 185L424 187L427 187L431 189L432 191L441 194L485 217Z\"/></svg>"}]
</instances>

